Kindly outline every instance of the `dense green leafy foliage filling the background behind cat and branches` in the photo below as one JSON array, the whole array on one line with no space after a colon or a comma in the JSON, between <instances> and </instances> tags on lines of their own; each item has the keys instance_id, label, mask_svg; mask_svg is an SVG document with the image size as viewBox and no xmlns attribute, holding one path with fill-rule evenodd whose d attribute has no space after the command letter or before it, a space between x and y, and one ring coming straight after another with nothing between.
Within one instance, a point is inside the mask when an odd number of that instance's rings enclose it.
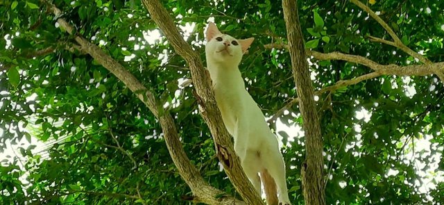
<instances>
[{"instance_id":1,"label":"dense green leafy foliage filling the background behind cat and branches","mask_svg":"<svg viewBox=\"0 0 444 205\"><path fill-rule=\"evenodd\" d=\"M76 49L76 35L100 45L153 90L175 117L182 145L203 177L234 196L230 182L219 171L192 85L179 84L190 77L187 65L157 33L142 4L137 0L53 3L63 11L61 17L75 25L75 35L62 31L58 17L40 1L0 4L0 149L22 139L57 140L47 150L49 156L29 146L17 152L26 158L23 164L22 156L3 162L0 203L189 203L183 199L191 191L171 161L155 117L115 76ZM203 29L210 17L222 32L255 37L240 67L250 95L266 116L296 96L286 51L263 46L286 42L280 1L163 3L202 59ZM366 56L384 65L418 63L399 49L370 42L368 35L390 36L352 3L298 3L307 48ZM444 1L427 1L427 5L411 0L372 1L369 6L379 11L379 17L408 47L422 51L432 62L444 60ZM310 70L316 89L371 72L345 61L309 60L314 63ZM436 189L423 191L426 182L418 173L430 172L442 179L438 170L444 169L443 97L443 83L436 76L382 76L318 96L327 204L442 201L443 181L432 180ZM300 126L302 119L294 114L299 113L298 106L289 111L282 122ZM279 133L284 137L291 200L303 204L303 133ZM418 151L421 140L430 144ZM393 170L398 174L388 174Z\"/></svg>"}]
</instances>

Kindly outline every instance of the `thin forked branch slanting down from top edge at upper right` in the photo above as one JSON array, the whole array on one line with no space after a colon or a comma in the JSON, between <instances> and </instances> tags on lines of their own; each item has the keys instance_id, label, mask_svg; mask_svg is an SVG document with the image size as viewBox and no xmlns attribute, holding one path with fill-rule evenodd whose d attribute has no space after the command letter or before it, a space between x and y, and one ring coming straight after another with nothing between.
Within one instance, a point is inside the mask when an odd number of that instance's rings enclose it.
<instances>
[{"instance_id":1,"label":"thin forked branch slanting down from top edge at upper right","mask_svg":"<svg viewBox=\"0 0 444 205\"><path fill-rule=\"evenodd\" d=\"M386 22L384 22L383 19L381 19L378 15L376 15L376 13L373 12L373 10L371 10L368 6L366 6L364 3L361 3L361 1L359 1L359 0L350 0L350 1L352 3L355 3L355 5L358 6L359 8L361 8L362 10L365 10L366 13L368 13L379 24L381 24L381 26L388 32L388 34L391 36L391 38L393 38L393 42L388 41L388 40L383 40L381 38L375 38L373 36L370 36L370 40L374 40L376 42L382 42L385 44L389 44L393 47L397 47L398 49L401 49L402 51L406 52L410 56L413 56L414 58L418 58L422 63L425 63L425 64L432 63L432 62L430 62L429 59L425 58L421 54L416 53L415 51L413 51L412 49L410 49L409 47L404 45L402 43L402 41L400 40L400 38L398 38L398 35L396 35L395 31L393 31L393 29L391 29L390 26L388 26L388 24L386 24Z\"/></svg>"}]
</instances>

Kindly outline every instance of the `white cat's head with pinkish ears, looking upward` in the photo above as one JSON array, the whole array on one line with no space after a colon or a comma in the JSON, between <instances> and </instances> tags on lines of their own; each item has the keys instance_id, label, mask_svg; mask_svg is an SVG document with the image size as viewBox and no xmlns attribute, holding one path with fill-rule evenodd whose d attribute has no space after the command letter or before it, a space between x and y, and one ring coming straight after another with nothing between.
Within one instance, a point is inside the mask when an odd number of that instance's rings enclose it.
<instances>
[{"instance_id":1,"label":"white cat's head with pinkish ears, looking upward","mask_svg":"<svg viewBox=\"0 0 444 205\"><path fill-rule=\"evenodd\" d=\"M207 45L205 54L207 61L214 63L233 63L239 65L242 55L247 51L255 38L237 40L230 35L221 33L215 24L210 22L207 27Z\"/></svg>"}]
</instances>

